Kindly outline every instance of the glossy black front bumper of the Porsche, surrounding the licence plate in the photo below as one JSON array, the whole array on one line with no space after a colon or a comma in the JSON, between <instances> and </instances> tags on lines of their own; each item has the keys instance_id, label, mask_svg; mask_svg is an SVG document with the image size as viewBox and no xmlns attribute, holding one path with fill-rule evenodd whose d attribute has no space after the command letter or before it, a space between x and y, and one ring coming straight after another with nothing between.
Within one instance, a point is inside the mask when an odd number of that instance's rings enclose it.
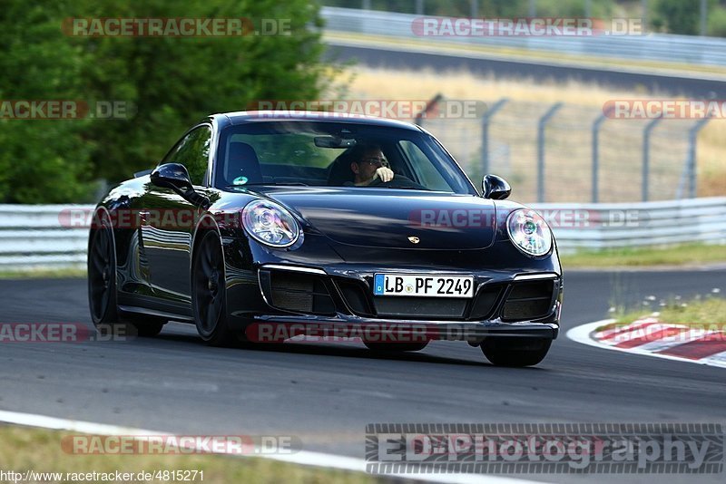
<instances>
[{"instance_id":1,"label":"glossy black front bumper of the Porsche, surrounding the licence plate","mask_svg":"<svg viewBox=\"0 0 726 484\"><path fill-rule=\"evenodd\" d=\"M324 340L358 336L368 341L405 342L425 338L479 344L486 338L501 336L555 339L559 331L563 282L562 276L554 272L484 271L474 274L477 296L462 303L465 305L460 314L443 317L422 314L426 308L418 309L416 314L381 315L371 291L366 289L372 284L374 272L379 270L355 270L349 265L322 269L269 264L246 272L248 274L238 277L234 284L230 284L228 275L228 321L232 329L244 331L253 341L270 341L271 338L277 342L306 334L321 336ZM289 276L289 286L282 287L286 290L275 286L275 275ZM300 289L306 277L310 278L308 294ZM539 310L534 318L517 319L519 301L526 305L527 298L513 303L511 297L516 295L515 288L536 283L550 284L552 288L548 300L539 297L544 310ZM358 285L367 301L351 302L346 285ZM484 295L486 291L489 291L486 305L480 307L476 304L478 295ZM407 300L416 305L415 299ZM522 315L526 316L525 313Z\"/></svg>"}]
</instances>

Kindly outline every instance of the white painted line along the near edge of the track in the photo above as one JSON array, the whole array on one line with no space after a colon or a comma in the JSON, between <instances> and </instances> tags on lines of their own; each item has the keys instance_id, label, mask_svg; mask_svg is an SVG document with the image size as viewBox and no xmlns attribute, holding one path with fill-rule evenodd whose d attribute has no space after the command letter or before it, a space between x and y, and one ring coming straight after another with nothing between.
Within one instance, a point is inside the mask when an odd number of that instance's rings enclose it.
<instances>
[{"instance_id":1,"label":"white painted line along the near edge of the track","mask_svg":"<svg viewBox=\"0 0 726 484\"><path fill-rule=\"evenodd\" d=\"M34 415L33 413L20 413L16 411L0 410L0 422L15 423L28 427L41 427L54 431L77 431L93 435L171 435L169 432L146 431L130 427L120 427L105 423L93 423L90 421L73 421ZM362 441L362 439L361 439ZM239 454L231 454L239 457ZM345 457L322 452L311 452L300 450L293 454L257 454L250 457L262 459L279 460L291 464L303 466L314 466L328 469L340 469L353 472L366 472L366 461L354 457ZM376 474L369 474L375 477ZM493 484L540 484L539 481L512 479L498 476L487 476L482 474L381 474L381 477L395 477L407 480L418 480L424 482L446 482L452 484L469 484L479 482L491 482Z\"/></svg>"}]
</instances>

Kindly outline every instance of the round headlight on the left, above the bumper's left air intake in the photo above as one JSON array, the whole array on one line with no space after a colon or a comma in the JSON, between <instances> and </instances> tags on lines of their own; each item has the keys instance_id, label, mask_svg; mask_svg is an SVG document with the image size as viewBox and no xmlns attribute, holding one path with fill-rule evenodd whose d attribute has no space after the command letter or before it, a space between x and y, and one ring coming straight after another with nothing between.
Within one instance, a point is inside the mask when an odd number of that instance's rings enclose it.
<instances>
[{"instance_id":1,"label":"round headlight on the left, above the bumper's left air intake","mask_svg":"<svg viewBox=\"0 0 726 484\"><path fill-rule=\"evenodd\" d=\"M242 210L242 225L258 242L289 247L300 236L298 222L285 208L267 200L254 200Z\"/></svg>"}]
</instances>

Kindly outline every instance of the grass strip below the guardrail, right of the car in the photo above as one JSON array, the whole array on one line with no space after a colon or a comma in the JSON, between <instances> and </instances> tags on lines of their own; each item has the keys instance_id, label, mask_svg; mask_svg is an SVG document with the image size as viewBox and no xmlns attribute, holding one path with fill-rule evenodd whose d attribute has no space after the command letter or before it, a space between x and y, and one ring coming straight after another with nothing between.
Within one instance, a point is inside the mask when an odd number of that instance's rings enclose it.
<instances>
[{"instance_id":1,"label":"grass strip below the guardrail, right of the car","mask_svg":"<svg viewBox=\"0 0 726 484\"><path fill-rule=\"evenodd\" d=\"M564 270L573 267L702 266L726 263L726 245L608 249L564 254L560 258Z\"/></svg>"}]
</instances>

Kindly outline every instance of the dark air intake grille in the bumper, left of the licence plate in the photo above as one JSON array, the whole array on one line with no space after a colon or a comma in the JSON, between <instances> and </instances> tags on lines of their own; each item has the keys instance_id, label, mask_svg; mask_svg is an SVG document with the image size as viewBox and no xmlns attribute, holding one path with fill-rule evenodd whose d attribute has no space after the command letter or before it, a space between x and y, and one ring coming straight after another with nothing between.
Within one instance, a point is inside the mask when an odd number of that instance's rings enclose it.
<instances>
[{"instance_id":1,"label":"dark air intake grille in the bumper, left of the licence plate","mask_svg":"<svg viewBox=\"0 0 726 484\"><path fill-rule=\"evenodd\" d=\"M335 303L320 276L287 271L260 271L270 305L284 311L335 315Z\"/></svg>"}]
</instances>

